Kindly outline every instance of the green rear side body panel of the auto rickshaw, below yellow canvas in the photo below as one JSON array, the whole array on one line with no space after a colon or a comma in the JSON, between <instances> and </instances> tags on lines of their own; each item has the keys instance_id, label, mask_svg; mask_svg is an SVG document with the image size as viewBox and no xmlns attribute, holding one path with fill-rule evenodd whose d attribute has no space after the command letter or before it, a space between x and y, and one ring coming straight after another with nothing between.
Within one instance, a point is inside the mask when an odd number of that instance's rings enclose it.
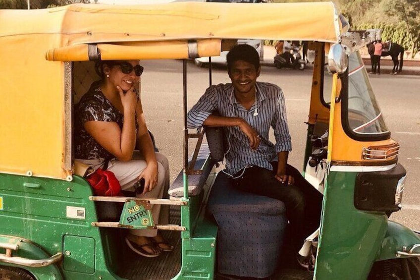
<instances>
[{"instance_id":1,"label":"green rear side body panel of the auto rickshaw, below yellow canvas","mask_svg":"<svg viewBox=\"0 0 420 280\"><path fill-rule=\"evenodd\" d=\"M25 268L37 279L62 279L63 274L70 279L119 279L111 269L116 268L118 255L108 240L111 236L91 225L97 221L96 208L84 178L75 175L67 182L0 174L0 192L2 242L23 240L18 242L25 244L18 249L22 258L63 255L61 272L57 265Z\"/></svg>"}]
</instances>

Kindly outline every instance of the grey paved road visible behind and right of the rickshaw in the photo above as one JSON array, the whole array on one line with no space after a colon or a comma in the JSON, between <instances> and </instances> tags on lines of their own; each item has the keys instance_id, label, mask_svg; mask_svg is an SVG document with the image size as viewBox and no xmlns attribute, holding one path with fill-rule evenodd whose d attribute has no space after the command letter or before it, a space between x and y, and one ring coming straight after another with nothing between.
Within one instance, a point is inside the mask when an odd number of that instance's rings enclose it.
<instances>
[{"instance_id":1,"label":"grey paved road visible behind and right of the rickshaw","mask_svg":"<svg viewBox=\"0 0 420 280\"><path fill-rule=\"evenodd\" d=\"M182 168L182 61L143 61L143 107L149 128L171 167L171 180ZM188 61L188 107L209 85L208 68ZM293 152L290 163L302 169L312 72L263 66L260 81L278 84L285 92ZM213 68L213 83L228 82L226 69ZM399 162L408 171L403 210L393 220L420 229L420 79L408 75L374 75L371 84L392 137L401 144Z\"/></svg>"}]
</instances>

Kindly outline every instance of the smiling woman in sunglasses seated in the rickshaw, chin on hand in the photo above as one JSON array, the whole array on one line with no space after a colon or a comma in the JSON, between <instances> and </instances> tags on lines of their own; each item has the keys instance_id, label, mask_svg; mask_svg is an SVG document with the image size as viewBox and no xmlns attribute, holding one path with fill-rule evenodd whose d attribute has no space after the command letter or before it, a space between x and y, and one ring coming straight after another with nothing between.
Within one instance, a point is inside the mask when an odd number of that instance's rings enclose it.
<instances>
[{"instance_id":1,"label":"smiling woman in sunglasses seated in the rickshaw, chin on hand","mask_svg":"<svg viewBox=\"0 0 420 280\"><path fill-rule=\"evenodd\" d=\"M134 184L144 179L144 190L137 195L162 198L169 186L168 162L155 153L135 89L143 66L138 60L106 60L98 61L95 69L102 80L92 83L78 104L75 157L94 169L108 165L105 169L115 174L122 190L134 190ZM138 154L134 151L136 145ZM156 223L167 220L165 210L153 206ZM172 249L157 229L131 230L126 242L146 257L157 257Z\"/></svg>"}]
</instances>

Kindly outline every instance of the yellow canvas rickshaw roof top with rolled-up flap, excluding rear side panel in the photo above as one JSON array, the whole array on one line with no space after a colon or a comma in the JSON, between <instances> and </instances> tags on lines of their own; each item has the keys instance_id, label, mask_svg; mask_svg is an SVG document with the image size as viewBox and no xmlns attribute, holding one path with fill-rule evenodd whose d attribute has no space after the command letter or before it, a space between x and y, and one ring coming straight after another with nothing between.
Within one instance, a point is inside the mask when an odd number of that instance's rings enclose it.
<instances>
[{"instance_id":1,"label":"yellow canvas rickshaw roof top with rolled-up flap, excluding rear side panel","mask_svg":"<svg viewBox=\"0 0 420 280\"><path fill-rule=\"evenodd\" d=\"M49 60L88 60L88 48L83 45L99 43L106 43L101 47L108 51L101 52L105 56L102 59L119 58L115 54L125 52L139 59L188 58L186 47L178 50L172 46L178 47L179 41L215 38L337 42L338 22L331 2L73 4L32 11L0 11L0 36L60 35L47 54ZM144 46L141 42L151 41L167 42L171 53L154 53L152 48L133 45L135 42ZM207 48L210 53L201 50L199 56L217 55L219 50L215 48Z\"/></svg>"}]
</instances>

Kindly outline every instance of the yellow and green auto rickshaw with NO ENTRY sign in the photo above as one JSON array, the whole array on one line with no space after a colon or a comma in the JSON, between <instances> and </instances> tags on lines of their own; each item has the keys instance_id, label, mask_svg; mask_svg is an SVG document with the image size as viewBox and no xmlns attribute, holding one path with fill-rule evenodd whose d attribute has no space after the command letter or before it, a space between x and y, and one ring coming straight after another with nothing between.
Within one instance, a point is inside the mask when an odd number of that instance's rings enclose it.
<instances>
[{"instance_id":1,"label":"yellow and green auto rickshaw with NO ENTRY sign","mask_svg":"<svg viewBox=\"0 0 420 280\"><path fill-rule=\"evenodd\" d=\"M303 173L324 199L318 238L307 239L316 249L310 276L419 279L419 235L388 220L404 189L400 146L358 53L379 31L348 29L329 2L0 10L1 278L217 278L217 224L206 215L215 161L203 132L186 128L187 59L218 56L237 39L269 39L309 41L314 61ZM184 166L172 199L95 196L79 172L73 107L99 59L183 59ZM122 205L116 219L104 221L104 203ZM176 208L180 222L155 224L151 204ZM177 249L165 259L121 257L122 229L148 227L180 232Z\"/></svg>"}]
</instances>

